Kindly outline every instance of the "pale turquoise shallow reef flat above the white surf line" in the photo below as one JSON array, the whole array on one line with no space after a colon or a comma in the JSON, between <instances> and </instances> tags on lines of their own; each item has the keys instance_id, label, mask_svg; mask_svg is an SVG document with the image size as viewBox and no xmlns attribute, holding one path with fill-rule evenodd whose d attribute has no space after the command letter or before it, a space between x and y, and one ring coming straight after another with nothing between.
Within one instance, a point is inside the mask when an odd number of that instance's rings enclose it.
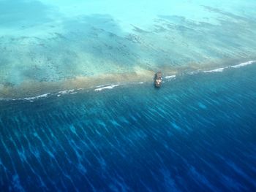
<instances>
[{"instance_id":1,"label":"pale turquoise shallow reef flat above the white surf line","mask_svg":"<svg viewBox=\"0 0 256 192\"><path fill-rule=\"evenodd\" d=\"M256 3L0 0L0 98L256 58Z\"/></svg>"}]
</instances>

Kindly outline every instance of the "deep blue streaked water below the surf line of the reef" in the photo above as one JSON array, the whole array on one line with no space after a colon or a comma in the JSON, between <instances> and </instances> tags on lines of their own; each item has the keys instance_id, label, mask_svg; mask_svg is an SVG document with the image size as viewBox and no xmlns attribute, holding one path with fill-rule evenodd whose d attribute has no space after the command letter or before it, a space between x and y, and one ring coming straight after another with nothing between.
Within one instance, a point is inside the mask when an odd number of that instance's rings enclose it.
<instances>
[{"instance_id":1,"label":"deep blue streaked water below the surf line of the reef","mask_svg":"<svg viewBox=\"0 0 256 192\"><path fill-rule=\"evenodd\" d=\"M0 101L0 191L256 191L255 73Z\"/></svg>"}]
</instances>

